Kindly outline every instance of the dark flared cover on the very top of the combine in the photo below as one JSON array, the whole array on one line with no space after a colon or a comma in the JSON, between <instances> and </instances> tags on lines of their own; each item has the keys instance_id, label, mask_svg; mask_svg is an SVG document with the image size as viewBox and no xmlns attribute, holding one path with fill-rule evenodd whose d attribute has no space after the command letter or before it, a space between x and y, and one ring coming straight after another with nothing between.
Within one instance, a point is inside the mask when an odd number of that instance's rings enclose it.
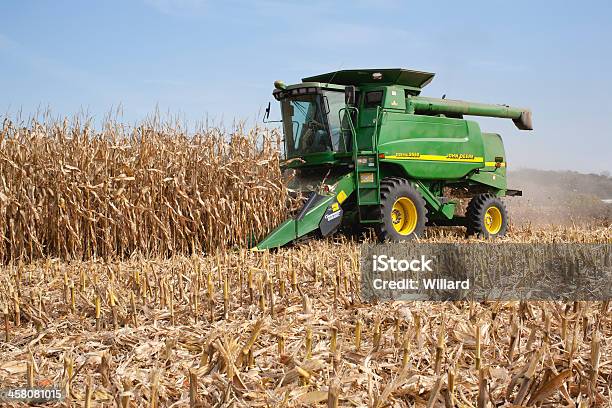
<instances>
[{"instance_id":1,"label":"dark flared cover on the very top of the combine","mask_svg":"<svg viewBox=\"0 0 612 408\"><path fill-rule=\"evenodd\" d=\"M380 74L380 75L376 75ZM302 78L302 82L321 82L338 85L401 85L422 89L431 82L434 73L402 68L345 69ZM380 79L375 79L380 77Z\"/></svg>"}]
</instances>

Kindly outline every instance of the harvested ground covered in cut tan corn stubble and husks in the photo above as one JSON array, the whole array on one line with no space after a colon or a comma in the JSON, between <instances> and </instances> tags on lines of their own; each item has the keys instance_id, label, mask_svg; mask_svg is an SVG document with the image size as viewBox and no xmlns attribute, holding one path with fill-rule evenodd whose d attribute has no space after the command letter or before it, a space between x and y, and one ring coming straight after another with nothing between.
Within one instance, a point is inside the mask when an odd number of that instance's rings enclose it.
<instances>
[{"instance_id":1,"label":"harvested ground covered in cut tan corn stubble and husks","mask_svg":"<svg viewBox=\"0 0 612 408\"><path fill-rule=\"evenodd\" d=\"M507 240L610 235L559 228ZM364 304L357 263L357 244L327 240L5 268L0 383L61 385L78 406L610 401L609 303Z\"/></svg>"}]
</instances>

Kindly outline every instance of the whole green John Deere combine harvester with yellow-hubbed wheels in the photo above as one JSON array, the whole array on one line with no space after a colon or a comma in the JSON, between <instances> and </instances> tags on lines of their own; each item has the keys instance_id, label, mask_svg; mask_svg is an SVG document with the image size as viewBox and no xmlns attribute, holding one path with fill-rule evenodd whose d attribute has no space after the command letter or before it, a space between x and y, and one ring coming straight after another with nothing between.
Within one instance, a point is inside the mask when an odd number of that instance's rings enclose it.
<instances>
[{"instance_id":1,"label":"whole green John Deere combine harvester with yellow-hubbed wheels","mask_svg":"<svg viewBox=\"0 0 612 408\"><path fill-rule=\"evenodd\" d=\"M464 115L512 119L532 130L531 111L419 96L434 74L406 69L343 70L274 83L290 188L302 209L254 250L339 228L373 227L381 241L420 237L426 225L462 225L497 237L508 226L500 135ZM270 107L266 110L269 117ZM470 199L465 215L457 199Z\"/></svg>"}]
</instances>

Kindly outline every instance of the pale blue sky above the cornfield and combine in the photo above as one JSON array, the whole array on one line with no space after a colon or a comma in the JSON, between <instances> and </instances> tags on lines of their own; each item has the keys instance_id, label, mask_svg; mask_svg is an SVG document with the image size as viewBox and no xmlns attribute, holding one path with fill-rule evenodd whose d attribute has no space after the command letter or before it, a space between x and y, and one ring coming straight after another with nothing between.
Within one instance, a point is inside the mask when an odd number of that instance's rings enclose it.
<instances>
[{"instance_id":1,"label":"pale blue sky above the cornfield and combine","mask_svg":"<svg viewBox=\"0 0 612 408\"><path fill-rule=\"evenodd\" d=\"M0 15L3 113L252 124L275 79L405 67L437 73L427 96L532 108L533 132L479 119L510 165L612 172L609 1L7 0Z\"/></svg>"}]
</instances>

